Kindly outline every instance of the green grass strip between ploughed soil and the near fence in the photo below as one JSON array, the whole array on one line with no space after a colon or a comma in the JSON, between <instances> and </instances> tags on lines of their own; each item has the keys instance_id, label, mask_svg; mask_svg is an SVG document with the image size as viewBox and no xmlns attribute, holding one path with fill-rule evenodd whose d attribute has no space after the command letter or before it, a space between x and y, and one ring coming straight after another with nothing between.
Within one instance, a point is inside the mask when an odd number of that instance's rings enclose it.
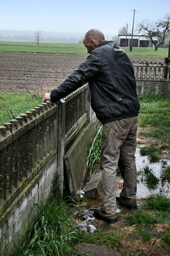
<instances>
[{"instance_id":1,"label":"green grass strip between ploughed soil and the near fence","mask_svg":"<svg viewBox=\"0 0 170 256\"><path fill-rule=\"evenodd\" d=\"M42 104L42 93L7 93L0 92L0 125L16 116Z\"/></svg>"}]
</instances>

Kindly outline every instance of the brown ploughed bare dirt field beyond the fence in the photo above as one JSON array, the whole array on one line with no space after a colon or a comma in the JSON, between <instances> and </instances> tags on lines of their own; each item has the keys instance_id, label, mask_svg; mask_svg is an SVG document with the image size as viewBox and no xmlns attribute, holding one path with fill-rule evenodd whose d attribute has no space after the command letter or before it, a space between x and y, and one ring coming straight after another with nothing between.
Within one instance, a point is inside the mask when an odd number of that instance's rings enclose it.
<instances>
[{"instance_id":1,"label":"brown ploughed bare dirt field beyond the fence","mask_svg":"<svg viewBox=\"0 0 170 256\"><path fill-rule=\"evenodd\" d=\"M88 55L0 52L0 91L55 88ZM131 56L131 61L162 62L164 57ZM51 90L51 89L50 89Z\"/></svg>"}]
</instances>

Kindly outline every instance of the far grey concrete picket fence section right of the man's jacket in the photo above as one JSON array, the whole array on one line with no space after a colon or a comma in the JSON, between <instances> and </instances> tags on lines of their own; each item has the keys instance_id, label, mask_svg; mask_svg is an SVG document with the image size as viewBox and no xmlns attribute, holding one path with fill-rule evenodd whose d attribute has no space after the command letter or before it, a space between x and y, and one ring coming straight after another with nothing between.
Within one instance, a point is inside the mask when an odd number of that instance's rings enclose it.
<instances>
[{"instance_id":1,"label":"far grey concrete picket fence section right of the man's jacket","mask_svg":"<svg viewBox=\"0 0 170 256\"><path fill-rule=\"evenodd\" d=\"M137 95L163 93L170 95L170 63L132 62L137 85Z\"/></svg>"}]
</instances>

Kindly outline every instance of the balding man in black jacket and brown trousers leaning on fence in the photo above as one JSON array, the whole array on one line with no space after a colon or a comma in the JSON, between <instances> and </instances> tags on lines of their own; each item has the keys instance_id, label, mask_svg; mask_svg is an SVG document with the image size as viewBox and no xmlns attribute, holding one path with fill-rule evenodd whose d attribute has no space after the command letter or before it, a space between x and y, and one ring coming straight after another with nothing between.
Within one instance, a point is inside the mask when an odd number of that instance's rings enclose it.
<instances>
[{"instance_id":1,"label":"balding man in black jacket and brown trousers leaning on fence","mask_svg":"<svg viewBox=\"0 0 170 256\"><path fill-rule=\"evenodd\" d=\"M103 124L101 167L103 206L93 215L107 223L118 221L116 200L129 208L136 204L136 132L140 108L134 69L127 54L113 41L105 41L98 29L84 36L89 56L62 84L45 93L43 101L55 102L89 82L91 105ZM116 199L116 168L124 178L123 190Z\"/></svg>"}]
</instances>

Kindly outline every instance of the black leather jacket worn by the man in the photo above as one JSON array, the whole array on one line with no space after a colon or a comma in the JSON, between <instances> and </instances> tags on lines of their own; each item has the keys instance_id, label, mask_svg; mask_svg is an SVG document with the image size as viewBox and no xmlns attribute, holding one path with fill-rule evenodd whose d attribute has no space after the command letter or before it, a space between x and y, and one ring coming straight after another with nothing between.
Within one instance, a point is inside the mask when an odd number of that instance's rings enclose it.
<instances>
[{"instance_id":1,"label":"black leather jacket worn by the man","mask_svg":"<svg viewBox=\"0 0 170 256\"><path fill-rule=\"evenodd\" d=\"M92 109L102 123L138 115L133 66L125 51L113 41L100 43L77 70L52 90L51 100L67 96L86 82Z\"/></svg>"}]
</instances>

